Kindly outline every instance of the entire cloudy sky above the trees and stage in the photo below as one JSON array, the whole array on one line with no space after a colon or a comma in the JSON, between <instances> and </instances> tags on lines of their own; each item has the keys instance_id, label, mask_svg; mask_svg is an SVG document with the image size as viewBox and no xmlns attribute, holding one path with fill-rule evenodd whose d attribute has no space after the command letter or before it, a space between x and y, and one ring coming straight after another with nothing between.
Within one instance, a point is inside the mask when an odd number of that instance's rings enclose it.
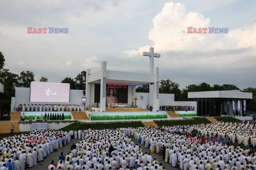
<instances>
[{"instance_id":1,"label":"entire cloudy sky above the trees and stage","mask_svg":"<svg viewBox=\"0 0 256 170\"><path fill-rule=\"evenodd\" d=\"M161 79L180 84L256 87L256 1L0 0L0 51L11 72L60 82L86 69L149 72L142 52L154 47ZM29 34L27 27L68 28ZM228 28L188 34L187 27ZM48 32L48 31L47 31Z\"/></svg>"}]
</instances>

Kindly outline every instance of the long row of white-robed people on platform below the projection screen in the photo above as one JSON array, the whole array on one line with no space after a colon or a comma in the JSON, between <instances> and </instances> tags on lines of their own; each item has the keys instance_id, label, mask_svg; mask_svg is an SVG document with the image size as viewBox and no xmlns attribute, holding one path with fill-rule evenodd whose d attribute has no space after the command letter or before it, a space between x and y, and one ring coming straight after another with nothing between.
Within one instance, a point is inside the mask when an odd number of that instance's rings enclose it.
<instances>
[{"instance_id":1,"label":"long row of white-robed people on platform below the projection screen","mask_svg":"<svg viewBox=\"0 0 256 170\"><path fill-rule=\"evenodd\" d=\"M50 104L20 104L16 108L17 112L71 112L71 111L83 111L82 105L50 105Z\"/></svg>"}]
</instances>

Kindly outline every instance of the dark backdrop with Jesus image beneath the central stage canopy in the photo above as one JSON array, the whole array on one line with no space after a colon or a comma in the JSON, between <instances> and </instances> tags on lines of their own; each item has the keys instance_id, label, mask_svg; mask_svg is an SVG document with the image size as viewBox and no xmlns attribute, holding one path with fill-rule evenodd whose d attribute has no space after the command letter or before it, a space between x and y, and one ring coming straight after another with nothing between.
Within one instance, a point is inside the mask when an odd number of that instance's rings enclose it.
<instances>
[{"instance_id":1,"label":"dark backdrop with Jesus image beneath the central stage canopy","mask_svg":"<svg viewBox=\"0 0 256 170\"><path fill-rule=\"evenodd\" d=\"M107 86L107 85L106 85ZM125 88L126 87L126 88ZM123 86L122 88L114 88L114 96L108 96L108 94L112 90L111 88L106 87L106 106L108 105L108 101L116 101L117 103L128 103L128 88L127 86ZM95 91L94 91L94 103L100 102L100 84L95 84Z\"/></svg>"}]
</instances>

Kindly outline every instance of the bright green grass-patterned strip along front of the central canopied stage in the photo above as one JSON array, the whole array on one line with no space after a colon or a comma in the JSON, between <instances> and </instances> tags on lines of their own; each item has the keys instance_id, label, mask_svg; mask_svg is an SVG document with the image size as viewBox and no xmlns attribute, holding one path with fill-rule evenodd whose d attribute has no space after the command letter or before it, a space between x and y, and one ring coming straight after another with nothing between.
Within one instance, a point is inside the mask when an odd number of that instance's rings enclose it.
<instances>
[{"instance_id":1,"label":"bright green grass-patterned strip along front of the central canopied stage","mask_svg":"<svg viewBox=\"0 0 256 170\"><path fill-rule=\"evenodd\" d=\"M128 120L128 119L150 119L167 118L166 114L148 114L148 115L91 115L91 120Z\"/></svg>"}]
</instances>

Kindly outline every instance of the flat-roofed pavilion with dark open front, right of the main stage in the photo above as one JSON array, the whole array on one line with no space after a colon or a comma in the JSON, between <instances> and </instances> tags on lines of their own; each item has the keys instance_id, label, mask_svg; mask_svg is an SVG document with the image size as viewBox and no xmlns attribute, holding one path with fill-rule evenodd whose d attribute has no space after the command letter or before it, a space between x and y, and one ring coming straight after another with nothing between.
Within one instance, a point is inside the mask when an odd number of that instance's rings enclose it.
<instances>
[{"instance_id":1,"label":"flat-roofed pavilion with dark open front, right of the main stage","mask_svg":"<svg viewBox=\"0 0 256 170\"><path fill-rule=\"evenodd\" d=\"M251 92L239 90L188 92L188 98L197 101L197 116L246 115L246 100Z\"/></svg>"}]
</instances>

